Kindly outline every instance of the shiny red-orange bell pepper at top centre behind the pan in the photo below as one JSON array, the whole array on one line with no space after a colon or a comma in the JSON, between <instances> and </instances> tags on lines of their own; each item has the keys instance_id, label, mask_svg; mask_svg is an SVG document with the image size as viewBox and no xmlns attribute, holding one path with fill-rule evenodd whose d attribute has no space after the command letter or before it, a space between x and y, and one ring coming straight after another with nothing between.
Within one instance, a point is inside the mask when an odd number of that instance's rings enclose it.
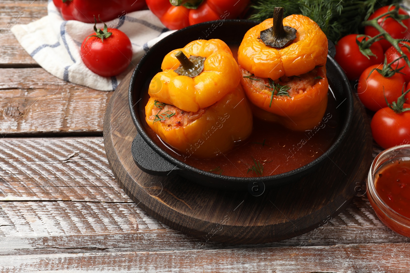
<instances>
[{"instance_id":1,"label":"shiny red-orange bell pepper at top centre behind the pan","mask_svg":"<svg viewBox=\"0 0 410 273\"><path fill-rule=\"evenodd\" d=\"M146 0L149 9L169 29L212 20L237 18L249 0Z\"/></svg>"}]
</instances>

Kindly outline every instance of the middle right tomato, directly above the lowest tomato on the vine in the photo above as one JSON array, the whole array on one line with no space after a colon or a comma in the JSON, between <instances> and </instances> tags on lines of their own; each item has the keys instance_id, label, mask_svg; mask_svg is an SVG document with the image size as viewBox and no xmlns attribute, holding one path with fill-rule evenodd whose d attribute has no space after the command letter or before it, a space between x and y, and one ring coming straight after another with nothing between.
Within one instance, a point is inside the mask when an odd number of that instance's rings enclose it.
<instances>
[{"instance_id":1,"label":"middle right tomato, directly above the lowest tomato on the vine","mask_svg":"<svg viewBox=\"0 0 410 273\"><path fill-rule=\"evenodd\" d=\"M372 65L363 71L359 78L358 95L366 108L378 111L387 106L385 96L389 103L401 96L405 81L403 75L399 73L395 73L392 77L383 77L376 70L371 72L374 68L382 69L383 65Z\"/></svg>"}]
</instances>

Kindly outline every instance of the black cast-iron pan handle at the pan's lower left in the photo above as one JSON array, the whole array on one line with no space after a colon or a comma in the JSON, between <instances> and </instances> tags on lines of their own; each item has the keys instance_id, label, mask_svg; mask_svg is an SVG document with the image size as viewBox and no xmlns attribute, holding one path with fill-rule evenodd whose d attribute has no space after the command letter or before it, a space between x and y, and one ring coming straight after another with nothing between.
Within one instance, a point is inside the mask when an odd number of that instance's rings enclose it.
<instances>
[{"instance_id":1,"label":"black cast-iron pan handle at the pan's lower left","mask_svg":"<svg viewBox=\"0 0 410 273\"><path fill-rule=\"evenodd\" d=\"M139 134L132 141L132 157L135 164L147 174L156 176L173 176L180 169L157 154Z\"/></svg>"}]
</instances>

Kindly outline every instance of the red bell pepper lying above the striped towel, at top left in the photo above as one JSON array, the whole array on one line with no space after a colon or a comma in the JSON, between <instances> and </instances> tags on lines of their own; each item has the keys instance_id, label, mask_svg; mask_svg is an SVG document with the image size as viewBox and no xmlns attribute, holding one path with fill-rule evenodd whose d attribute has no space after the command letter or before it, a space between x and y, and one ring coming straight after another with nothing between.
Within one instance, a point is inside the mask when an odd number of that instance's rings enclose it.
<instances>
[{"instance_id":1,"label":"red bell pepper lying above the striped towel, at top left","mask_svg":"<svg viewBox=\"0 0 410 273\"><path fill-rule=\"evenodd\" d=\"M109 21L146 7L145 0L53 0L64 20L94 23L94 16Z\"/></svg>"}]
</instances>

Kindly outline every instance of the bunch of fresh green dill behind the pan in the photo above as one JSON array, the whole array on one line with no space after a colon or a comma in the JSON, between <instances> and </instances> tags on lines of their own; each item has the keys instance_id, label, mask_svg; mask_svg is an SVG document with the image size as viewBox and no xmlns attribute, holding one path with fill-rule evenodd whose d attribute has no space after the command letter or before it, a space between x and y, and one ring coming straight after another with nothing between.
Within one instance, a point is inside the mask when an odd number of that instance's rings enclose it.
<instances>
[{"instance_id":1,"label":"bunch of fresh green dill behind the pan","mask_svg":"<svg viewBox=\"0 0 410 273\"><path fill-rule=\"evenodd\" d=\"M400 0L253 0L254 11L249 19L272 18L275 7L285 9L284 16L302 14L314 20L329 40L359 33L361 22L378 8Z\"/></svg>"}]
</instances>

